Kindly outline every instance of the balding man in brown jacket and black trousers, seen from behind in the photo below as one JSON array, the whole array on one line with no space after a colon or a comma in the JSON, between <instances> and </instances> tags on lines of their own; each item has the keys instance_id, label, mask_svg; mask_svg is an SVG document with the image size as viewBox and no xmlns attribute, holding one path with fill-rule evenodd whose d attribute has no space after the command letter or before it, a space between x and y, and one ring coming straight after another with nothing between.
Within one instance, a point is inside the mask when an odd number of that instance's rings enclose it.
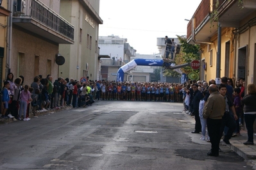
<instances>
[{"instance_id":1,"label":"balding man in brown jacket and black trousers, seen from behind","mask_svg":"<svg viewBox=\"0 0 256 170\"><path fill-rule=\"evenodd\" d=\"M222 95L218 93L215 84L209 86L210 96L205 103L203 118L207 118L207 128L210 136L212 148L207 153L208 156L219 156L219 133L221 131L222 117L226 109L226 102Z\"/></svg>"}]
</instances>

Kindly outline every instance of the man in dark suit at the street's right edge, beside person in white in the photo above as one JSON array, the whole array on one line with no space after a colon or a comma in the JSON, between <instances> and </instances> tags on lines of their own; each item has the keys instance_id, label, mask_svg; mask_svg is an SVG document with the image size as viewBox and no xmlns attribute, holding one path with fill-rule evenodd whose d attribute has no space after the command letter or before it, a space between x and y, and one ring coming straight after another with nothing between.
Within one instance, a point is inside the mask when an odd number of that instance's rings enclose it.
<instances>
[{"instance_id":1,"label":"man in dark suit at the street's right edge, beside person in white","mask_svg":"<svg viewBox=\"0 0 256 170\"><path fill-rule=\"evenodd\" d=\"M193 100L192 100L192 114L194 114L194 120L196 121L196 125L194 127L194 131L191 132L193 134L199 134L201 132L201 121L199 117L199 103L203 98L203 93L198 90L198 84L192 84L193 88Z\"/></svg>"}]
</instances>

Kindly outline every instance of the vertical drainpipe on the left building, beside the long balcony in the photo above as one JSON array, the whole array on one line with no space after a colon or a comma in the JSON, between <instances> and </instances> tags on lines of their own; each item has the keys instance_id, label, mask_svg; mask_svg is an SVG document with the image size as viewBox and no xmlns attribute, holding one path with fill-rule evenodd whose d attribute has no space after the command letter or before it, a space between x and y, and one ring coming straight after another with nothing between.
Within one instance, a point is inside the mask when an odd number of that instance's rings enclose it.
<instances>
[{"instance_id":1,"label":"vertical drainpipe on the left building, beside the long balcony","mask_svg":"<svg viewBox=\"0 0 256 170\"><path fill-rule=\"evenodd\" d=\"M8 10L11 12L8 20L8 38L7 38L7 44L8 49L6 50L7 58L6 58L6 74L10 72L11 69L11 59L12 59L12 14L13 14L13 0L8 1Z\"/></svg>"}]
</instances>

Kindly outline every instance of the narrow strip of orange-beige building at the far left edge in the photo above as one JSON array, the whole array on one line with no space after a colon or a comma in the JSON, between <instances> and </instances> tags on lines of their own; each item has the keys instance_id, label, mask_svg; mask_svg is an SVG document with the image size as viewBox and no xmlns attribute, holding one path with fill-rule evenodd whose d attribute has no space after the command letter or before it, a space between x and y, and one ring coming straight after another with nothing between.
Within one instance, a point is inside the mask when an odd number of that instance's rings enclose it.
<instances>
[{"instance_id":1,"label":"narrow strip of orange-beige building at the far left edge","mask_svg":"<svg viewBox=\"0 0 256 170\"><path fill-rule=\"evenodd\" d=\"M4 64L6 59L6 36L7 36L7 24L10 11L7 10L7 1L3 1L0 5L0 82L4 79ZM1 84L1 87L3 84Z\"/></svg>"}]
</instances>

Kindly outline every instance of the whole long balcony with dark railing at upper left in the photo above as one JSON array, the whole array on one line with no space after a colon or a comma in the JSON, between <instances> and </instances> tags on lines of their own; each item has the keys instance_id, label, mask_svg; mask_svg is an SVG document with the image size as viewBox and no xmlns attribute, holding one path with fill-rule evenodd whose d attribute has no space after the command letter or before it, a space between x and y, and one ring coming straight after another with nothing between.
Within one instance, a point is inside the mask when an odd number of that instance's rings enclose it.
<instances>
[{"instance_id":1,"label":"whole long balcony with dark railing at upper left","mask_svg":"<svg viewBox=\"0 0 256 170\"><path fill-rule=\"evenodd\" d=\"M56 43L73 44L74 26L38 0L13 3L13 25Z\"/></svg>"}]
</instances>

